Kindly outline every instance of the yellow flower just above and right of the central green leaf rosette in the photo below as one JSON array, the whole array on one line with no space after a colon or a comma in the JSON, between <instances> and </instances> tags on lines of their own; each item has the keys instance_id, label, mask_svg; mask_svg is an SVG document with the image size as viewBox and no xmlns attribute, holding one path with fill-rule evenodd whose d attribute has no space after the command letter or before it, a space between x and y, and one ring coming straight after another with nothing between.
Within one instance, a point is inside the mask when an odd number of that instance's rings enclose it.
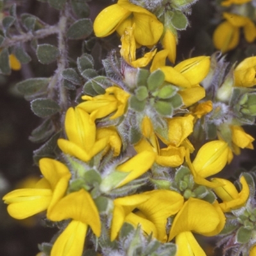
<instances>
[{"instance_id":1,"label":"yellow flower just above and right of the central green leaf rosette","mask_svg":"<svg viewBox=\"0 0 256 256\"><path fill-rule=\"evenodd\" d=\"M165 59L168 53L168 50L157 52L152 61L150 72L160 68L164 72L165 81L183 88L198 86L207 76L211 63L209 56L190 58L181 61L175 67L169 67L165 65ZM201 89L204 91L204 88Z\"/></svg>"}]
</instances>

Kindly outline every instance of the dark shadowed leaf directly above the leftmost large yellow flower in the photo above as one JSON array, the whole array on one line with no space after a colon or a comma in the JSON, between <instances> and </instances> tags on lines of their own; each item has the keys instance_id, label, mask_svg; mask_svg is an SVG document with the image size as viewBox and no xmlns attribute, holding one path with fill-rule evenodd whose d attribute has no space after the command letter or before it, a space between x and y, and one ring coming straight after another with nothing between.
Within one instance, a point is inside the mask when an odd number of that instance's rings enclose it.
<instances>
[{"instance_id":1,"label":"dark shadowed leaf directly above the leftmost large yellow flower","mask_svg":"<svg viewBox=\"0 0 256 256\"><path fill-rule=\"evenodd\" d=\"M33 152L33 160L36 164L43 157L56 157L55 151L58 150L57 141L59 138L60 132L57 132L44 145Z\"/></svg>"}]
</instances>

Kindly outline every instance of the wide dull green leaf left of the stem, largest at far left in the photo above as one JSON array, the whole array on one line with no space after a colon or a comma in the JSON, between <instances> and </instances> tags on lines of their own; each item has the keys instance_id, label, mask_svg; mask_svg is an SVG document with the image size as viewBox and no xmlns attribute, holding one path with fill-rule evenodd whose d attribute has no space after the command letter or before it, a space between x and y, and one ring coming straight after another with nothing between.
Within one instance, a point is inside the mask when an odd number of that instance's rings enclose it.
<instances>
[{"instance_id":1,"label":"wide dull green leaf left of the stem, largest at far left","mask_svg":"<svg viewBox=\"0 0 256 256\"><path fill-rule=\"evenodd\" d=\"M32 100L35 97L42 97L47 92L47 86L50 79L41 78L29 78L20 83L17 83L17 90L25 96L25 99Z\"/></svg>"}]
</instances>

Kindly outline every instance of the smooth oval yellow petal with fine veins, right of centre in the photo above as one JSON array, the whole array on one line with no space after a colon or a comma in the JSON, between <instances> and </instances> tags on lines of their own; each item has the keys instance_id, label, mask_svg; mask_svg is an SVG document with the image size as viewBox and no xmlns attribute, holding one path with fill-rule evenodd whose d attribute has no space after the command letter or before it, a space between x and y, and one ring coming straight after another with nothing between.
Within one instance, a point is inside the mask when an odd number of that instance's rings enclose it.
<instances>
[{"instance_id":1,"label":"smooth oval yellow petal with fine veins, right of centre","mask_svg":"<svg viewBox=\"0 0 256 256\"><path fill-rule=\"evenodd\" d=\"M193 161L195 172L200 177L209 177L220 172L228 161L228 145L224 141L215 140L205 143Z\"/></svg>"}]
</instances>

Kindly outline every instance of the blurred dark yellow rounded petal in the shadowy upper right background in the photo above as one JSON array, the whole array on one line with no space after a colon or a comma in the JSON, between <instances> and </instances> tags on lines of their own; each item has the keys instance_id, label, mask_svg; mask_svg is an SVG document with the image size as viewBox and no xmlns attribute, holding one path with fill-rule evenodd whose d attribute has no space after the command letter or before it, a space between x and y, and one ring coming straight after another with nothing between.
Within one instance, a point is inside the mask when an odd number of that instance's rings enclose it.
<instances>
[{"instance_id":1,"label":"blurred dark yellow rounded petal in the shadowy upper right background","mask_svg":"<svg viewBox=\"0 0 256 256\"><path fill-rule=\"evenodd\" d=\"M225 21L215 29L213 33L213 43L216 49L225 53L237 47L239 36L239 28Z\"/></svg>"}]
</instances>

